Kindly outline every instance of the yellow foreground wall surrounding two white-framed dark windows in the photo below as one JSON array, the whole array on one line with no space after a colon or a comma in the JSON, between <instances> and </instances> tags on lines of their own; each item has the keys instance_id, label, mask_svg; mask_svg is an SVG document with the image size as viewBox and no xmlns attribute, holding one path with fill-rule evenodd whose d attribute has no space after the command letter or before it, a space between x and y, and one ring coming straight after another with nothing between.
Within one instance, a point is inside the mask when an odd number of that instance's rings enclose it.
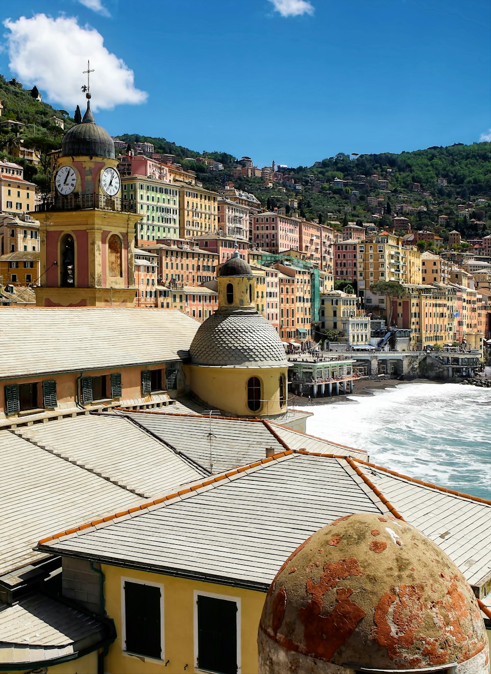
<instances>
[{"instance_id":1,"label":"yellow foreground wall surrounding two white-framed dark windows","mask_svg":"<svg viewBox=\"0 0 491 674\"><path fill-rule=\"evenodd\" d=\"M263 610L264 592L226 585L174 578L109 565L102 565L106 613L114 620L117 638L104 661L106 674L166 674L199 672L195 661L195 592L240 599L240 669L239 674L257 672L257 626ZM164 657L162 660L129 655L122 640L123 579L131 582L159 584L163 587ZM165 663L168 661L167 667ZM187 668L185 669L185 666Z\"/></svg>"}]
</instances>

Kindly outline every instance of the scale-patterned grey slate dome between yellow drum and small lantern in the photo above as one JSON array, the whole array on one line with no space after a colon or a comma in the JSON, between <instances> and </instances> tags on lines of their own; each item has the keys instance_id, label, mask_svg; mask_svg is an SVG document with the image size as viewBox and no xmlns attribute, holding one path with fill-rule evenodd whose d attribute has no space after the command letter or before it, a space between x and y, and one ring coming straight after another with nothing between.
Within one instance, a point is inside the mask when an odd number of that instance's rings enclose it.
<instances>
[{"instance_id":1,"label":"scale-patterned grey slate dome between yellow drum and small lantern","mask_svg":"<svg viewBox=\"0 0 491 674\"><path fill-rule=\"evenodd\" d=\"M199 327L190 355L194 365L288 365L276 330L257 311L216 311Z\"/></svg>"}]
</instances>

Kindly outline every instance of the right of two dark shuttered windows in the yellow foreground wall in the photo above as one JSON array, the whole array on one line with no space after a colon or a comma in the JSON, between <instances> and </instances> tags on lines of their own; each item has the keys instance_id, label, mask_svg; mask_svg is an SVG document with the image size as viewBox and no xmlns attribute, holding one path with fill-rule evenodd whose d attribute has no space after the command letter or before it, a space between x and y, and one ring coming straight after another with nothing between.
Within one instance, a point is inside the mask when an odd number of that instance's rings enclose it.
<instances>
[{"instance_id":1,"label":"right of two dark shuttered windows in the yellow foreground wall","mask_svg":"<svg viewBox=\"0 0 491 674\"><path fill-rule=\"evenodd\" d=\"M199 669L237 672L237 604L214 596L197 597Z\"/></svg>"}]
</instances>

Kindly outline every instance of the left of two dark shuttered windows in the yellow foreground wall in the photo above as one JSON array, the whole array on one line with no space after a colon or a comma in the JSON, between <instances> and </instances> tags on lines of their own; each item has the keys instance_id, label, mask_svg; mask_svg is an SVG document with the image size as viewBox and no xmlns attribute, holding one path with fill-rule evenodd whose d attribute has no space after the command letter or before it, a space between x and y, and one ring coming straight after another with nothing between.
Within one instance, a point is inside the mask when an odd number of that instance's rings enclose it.
<instances>
[{"instance_id":1,"label":"left of two dark shuttered windows in the yellow foreground wall","mask_svg":"<svg viewBox=\"0 0 491 674\"><path fill-rule=\"evenodd\" d=\"M160 587L125 582L125 650L162 658Z\"/></svg>"}]
</instances>

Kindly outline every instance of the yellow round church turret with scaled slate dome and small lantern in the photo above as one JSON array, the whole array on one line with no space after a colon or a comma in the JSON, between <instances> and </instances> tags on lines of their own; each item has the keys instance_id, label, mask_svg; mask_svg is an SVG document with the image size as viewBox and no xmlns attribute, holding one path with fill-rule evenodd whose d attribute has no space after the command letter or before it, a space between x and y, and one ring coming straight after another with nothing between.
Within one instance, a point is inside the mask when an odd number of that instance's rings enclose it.
<instances>
[{"instance_id":1,"label":"yellow round church turret with scaled slate dome and small lantern","mask_svg":"<svg viewBox=\"0 0 491 674\"><path fill-rule=\"evenodd\" d=\"M218 276L218 310L201 325L185 365L191 390L235 417L267 417L287 406L288 362L276 330L255 307L255 276L234 253Z\"/></svg>"}]
</instances>

